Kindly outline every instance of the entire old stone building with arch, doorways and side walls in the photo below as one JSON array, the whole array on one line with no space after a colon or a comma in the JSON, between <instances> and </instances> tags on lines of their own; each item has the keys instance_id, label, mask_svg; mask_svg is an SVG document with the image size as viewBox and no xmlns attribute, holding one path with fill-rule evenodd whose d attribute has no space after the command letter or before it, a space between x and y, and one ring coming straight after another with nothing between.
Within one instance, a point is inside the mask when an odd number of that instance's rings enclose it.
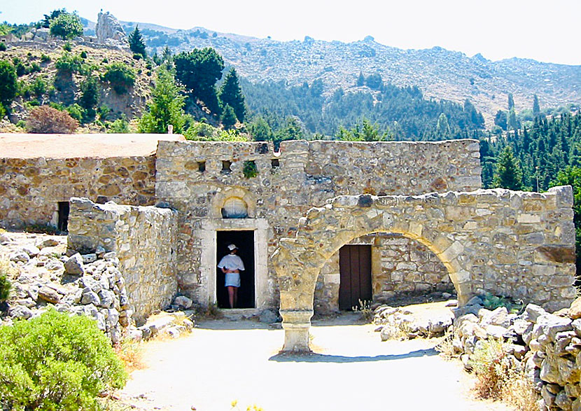
<instances>
[{"instance_id":1,"label":"entire old stone building with arch, doorways and side walls","mask_svg":"<svg viewBox=\"0 0 581 411\"><path fill-rule=\"evenodd\" d=\"M570 188L481 190L475 140L274 151L161 135L144 150L132 134L97 155L22 138L26 150L10 151L16 137L0 136L0 221L55 225L70 207L69 246L117 251L141 316L176 293L225 306L216 264L231 242L246 265L240 306L280 307L285 349L308 349L314 309L358 300L455 288L461 302L489 291L556 309L575 295ZM111 200L126 205L98 204Z\"/></svg>"}]
</instances>

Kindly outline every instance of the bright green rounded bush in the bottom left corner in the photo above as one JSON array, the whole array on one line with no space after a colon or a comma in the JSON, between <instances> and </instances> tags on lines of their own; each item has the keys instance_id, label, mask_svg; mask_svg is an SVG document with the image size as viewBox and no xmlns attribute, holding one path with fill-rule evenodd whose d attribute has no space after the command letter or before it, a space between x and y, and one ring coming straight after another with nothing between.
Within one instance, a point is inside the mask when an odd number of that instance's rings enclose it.
<instances>
[{"instance_id":1,"label":"bright green rounded bush in the bottom left corner","mask_svg":"<svg viewBox=\"0 0 581 411\"><path fill-rule=\"evenodd\" d=\"M99 393L127 381L94 321L55 309L0 327L0 358L5 410L95 410Z\"/></svg>"}]
</instances>

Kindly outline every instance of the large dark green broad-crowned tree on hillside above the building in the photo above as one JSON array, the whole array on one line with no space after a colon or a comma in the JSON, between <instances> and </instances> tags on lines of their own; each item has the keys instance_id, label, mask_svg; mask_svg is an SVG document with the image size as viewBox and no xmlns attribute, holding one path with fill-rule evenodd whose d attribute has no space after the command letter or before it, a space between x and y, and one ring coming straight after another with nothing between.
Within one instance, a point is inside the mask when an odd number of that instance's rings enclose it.
<instances>
[{"instance_id":1,"label":"large dark green broad-crowned tree on hillside above the building","mask_svg":"<svg viewBox=\"0 0 581 411\"><path fill-rule=\"evenodd\" d=\"M195 49L174 56L176 79L184 85L186 92L200 99L214 114L221 113L216 81L222 77L224 60L214 48Z\"/></svg>"}]
</instances>

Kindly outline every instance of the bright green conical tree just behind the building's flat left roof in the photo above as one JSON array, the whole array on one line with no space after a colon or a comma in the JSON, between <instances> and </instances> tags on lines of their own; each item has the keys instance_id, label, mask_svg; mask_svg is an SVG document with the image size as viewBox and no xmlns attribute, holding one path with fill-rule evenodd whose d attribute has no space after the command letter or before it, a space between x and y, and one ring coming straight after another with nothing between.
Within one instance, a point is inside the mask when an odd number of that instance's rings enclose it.
<instances>
[{"instance_id":1,"label":"bright green conical tree just behind the building's flat left roof","mask_svg":"<svg viewBox=\"0 0 581 411\"><path fill-rule=\"evenodd\" d=\"M148 111L139 120L141 133L167 133L167 126L174 126L174 132L183 132L186 116L183 112L183 89L176 84L172 73L167 69L160 69L158 81L152 92Z\"/></svg>"}]
</instances>

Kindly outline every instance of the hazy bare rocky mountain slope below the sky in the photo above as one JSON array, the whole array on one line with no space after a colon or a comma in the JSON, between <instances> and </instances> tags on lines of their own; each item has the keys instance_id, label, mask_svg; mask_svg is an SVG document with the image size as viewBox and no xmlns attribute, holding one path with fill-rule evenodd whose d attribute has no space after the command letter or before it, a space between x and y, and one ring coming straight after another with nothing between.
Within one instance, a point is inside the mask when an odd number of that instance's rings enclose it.
<instances>
[{"instance_id":1,"label":"hazy bare rocky mountain slope below the sky","mask_svg":"<svg viewBox=\"0 0 581 411\"><path fill-rule=\"evenodd\" d=\"M126 32L137 23L121 22ZM533 95L541 108L581 102L581 66L567 66L512 58L493 62L482 55L430 48L402 50L363 41L342 43L276 41L237 34L216 33L202 27L175 30L139 23L152 51L169 46L174 52L214 47L227 64L253 82L286 80L289 85L321 78L325 93L355 87L360 71L380 74L395 85L417 85L426 97L463 102L469 98L484 113L487 123L499 109L507 109L507 94L514 95L517 111L531 109Z\"/></svg>"}]
</instances>

